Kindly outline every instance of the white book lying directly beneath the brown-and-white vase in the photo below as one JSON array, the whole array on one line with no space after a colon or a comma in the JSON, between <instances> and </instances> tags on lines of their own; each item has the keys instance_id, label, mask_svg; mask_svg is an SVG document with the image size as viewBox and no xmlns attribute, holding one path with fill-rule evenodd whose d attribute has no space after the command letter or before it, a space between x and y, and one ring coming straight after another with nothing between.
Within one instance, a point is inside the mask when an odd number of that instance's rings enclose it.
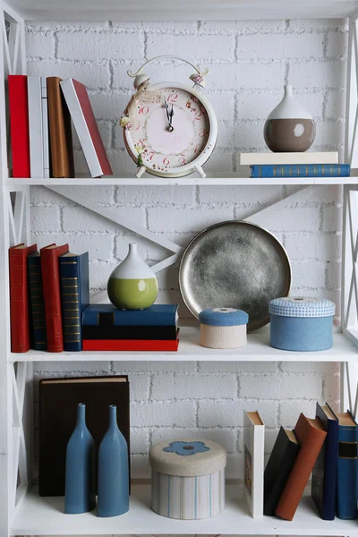
<instances>
[{"instance_id":1,"label":"white book lying directly beneath the brown-and-white vase","mask_svg":"<svg viewBox=\"0 0 358 537\"><path fill-rule=\"evenodd\" d=\"M241 153L240 165L275 165L275 164L338 164L337 151L316 153Z\"/></svg>"}]
</instances>

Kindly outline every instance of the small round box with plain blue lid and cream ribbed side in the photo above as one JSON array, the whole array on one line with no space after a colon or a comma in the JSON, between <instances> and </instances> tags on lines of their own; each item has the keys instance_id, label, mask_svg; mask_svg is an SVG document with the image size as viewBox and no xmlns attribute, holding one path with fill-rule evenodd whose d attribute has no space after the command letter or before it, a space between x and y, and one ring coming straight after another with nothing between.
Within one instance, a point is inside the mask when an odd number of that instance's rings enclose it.
<instances>
[{"instance_id":1,"label":"small round box with plain blue lid and cream ribbed side","mask_svg":"<svg viewBox=\"0 0 358 537\"><path fill-rule=\"evenodd\" d=\"M236 349L247 344L249 315L234 308L213 308L199 314L200 345L211 349Z\"/></svg>"}]
</instances>

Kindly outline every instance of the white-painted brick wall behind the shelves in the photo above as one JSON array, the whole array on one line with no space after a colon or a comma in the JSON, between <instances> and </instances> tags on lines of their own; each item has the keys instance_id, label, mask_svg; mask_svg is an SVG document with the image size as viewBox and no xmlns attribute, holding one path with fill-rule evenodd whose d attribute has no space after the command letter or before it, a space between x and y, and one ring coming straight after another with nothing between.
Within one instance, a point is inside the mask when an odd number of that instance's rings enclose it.
<instances>
[{"instance_id":1,"label":"white-painted brick wall behind the shelves","mask_svg":"<svg viewBox=\"0 0 358 537\"><path fill-rule=\"evenodd\" d=\"M217 110L220 135L210 172L235 172L241 150L265 145L262 127L285 82L317 122L313 149L343 148L346 28L343 21L227 22L31 22L27 27L30 73L76 77L90 98L115 175L133 174L117 118L132 93L127 69L153 55L178 54L208 65L208 96ZM153 81L188 81L183 64L149 68ZM76 147L78 144L76 142ZM79 152L76 161L83 166ZM85 170L86 168L84 168ZM158 234L185 245L195 232L224 219L248 217L296 187L151 187L87 189L98 203L116 208ZM125 256L132 234L76 208L62 196L32 189L33 238L43 246L68 241L90 251L92 291L104 289ZM341 197L337 187L317 188L268 219L266 226L293 260L293 291L337 300ZM166 252L137 240L150 263ZM159 275L160 300L181 304L176 269ZM258 409L268 427L266 451L280 424L314 413L316 400L337 403L334 364L137 362L41 363L36 375L128 373L132 397L132 466L147 476L148 449L161 439L207 437L229 453L230 476L242 476L243 409Z\"/></svg>"}]
</instances>

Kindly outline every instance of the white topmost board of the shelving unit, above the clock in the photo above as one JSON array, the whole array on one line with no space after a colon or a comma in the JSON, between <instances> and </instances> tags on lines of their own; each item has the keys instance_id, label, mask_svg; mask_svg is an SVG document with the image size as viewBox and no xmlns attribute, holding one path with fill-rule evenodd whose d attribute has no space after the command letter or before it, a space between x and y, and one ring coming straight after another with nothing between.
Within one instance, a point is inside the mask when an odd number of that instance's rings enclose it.
<instances>
[{"instance_id":1,"label":"white topmost board of the shelving unit, above the clock","mask_svg":"<svg viewBox=\"0 0 358 537\"><path fill-rule=\"evenodd\" d=\"M24 19L45 21L196 21L345 18L357 0L8 0Z\"/></svg>"}]
</instances>

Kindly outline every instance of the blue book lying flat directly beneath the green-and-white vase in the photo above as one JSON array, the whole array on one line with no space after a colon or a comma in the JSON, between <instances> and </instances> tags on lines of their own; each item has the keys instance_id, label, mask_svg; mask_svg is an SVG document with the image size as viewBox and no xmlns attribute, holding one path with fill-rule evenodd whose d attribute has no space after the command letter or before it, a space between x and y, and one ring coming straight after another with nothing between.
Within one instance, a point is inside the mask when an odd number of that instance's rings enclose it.
<instances>
[{"instance_id":1,"label":"blue book lying flat directly beneath the green-and-white vase","mask_svg":"<svg viewBox=\"0 0 358 537\"><path fill-rule=\"evenodd\" d=\"M98 327L171 327L178 321L177 304L153 304L145 310L118 310L113 304L90 304L82 325Z\"/></svg>"}]
</instances>

